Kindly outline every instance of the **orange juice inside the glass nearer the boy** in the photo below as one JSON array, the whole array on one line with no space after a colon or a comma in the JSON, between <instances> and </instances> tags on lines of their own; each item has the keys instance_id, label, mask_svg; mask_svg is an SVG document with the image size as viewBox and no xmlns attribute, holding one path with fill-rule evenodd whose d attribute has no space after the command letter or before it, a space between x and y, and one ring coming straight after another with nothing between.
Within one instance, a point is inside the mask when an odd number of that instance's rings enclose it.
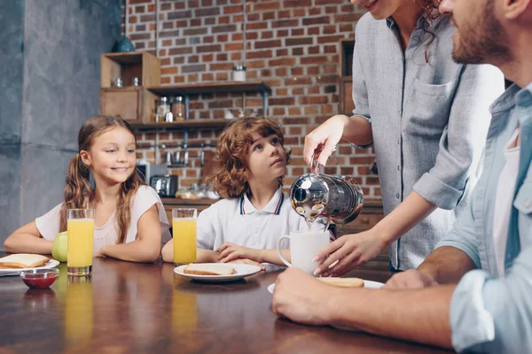
<instances>
[{"instance_id":1,"label":"orange juice inside the glass nearer the boy","mask_svg":"<svg viewBox=\"0 0 532 354\"><path fill-rule=\"evenodd\" d=\"M174 218L174 263L196 261L196 218Z\"/></svg>"}]
</instances>

